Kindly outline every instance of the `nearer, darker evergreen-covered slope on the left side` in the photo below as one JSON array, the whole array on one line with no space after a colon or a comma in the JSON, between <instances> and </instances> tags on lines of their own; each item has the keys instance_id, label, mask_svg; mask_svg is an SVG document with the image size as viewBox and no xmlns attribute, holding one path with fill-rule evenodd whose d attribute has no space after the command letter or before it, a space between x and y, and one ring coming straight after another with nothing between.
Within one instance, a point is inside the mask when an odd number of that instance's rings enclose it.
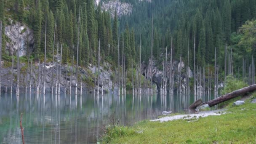
<instances>
[{"instance_id":1,"label":"nearer, darker evergreen-covered slope on the left side","mask_svg":"<svg viewBox=\"0 0 256 144\"><path fill-rule=\"evenodd\" d=\"M72 60L73 55L76 58L79 43L79 65L88 66L95 62L100 40L101 57L117 63L117 16L112 19L110 13L101 11L100 5L96 8L94 0L1 0L0 16L4 25L8 25L12 19L33 29L35 43L30 54L36 60L43 58L47 24L48 58L52 57L53 47L56 48L59 42L63 44L63 60L67 63ZM134 37L132 32L127 35ZM3 49L7 40L3 37ZM134 43L134 39L131 42ZM8 55L5 51L3 54Z\"/></svg>"}]
</instances>

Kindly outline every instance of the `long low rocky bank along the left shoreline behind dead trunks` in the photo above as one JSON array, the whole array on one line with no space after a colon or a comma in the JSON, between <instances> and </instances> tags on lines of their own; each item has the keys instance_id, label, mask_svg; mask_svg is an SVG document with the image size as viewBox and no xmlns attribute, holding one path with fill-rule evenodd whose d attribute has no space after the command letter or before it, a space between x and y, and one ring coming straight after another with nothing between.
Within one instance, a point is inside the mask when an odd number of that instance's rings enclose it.
<instances>
[{"instance_id":1,"label":"long low rocky bank along the left shoreline behind dead trunks","mask_svg":"<svg viewBox=\"0 0 256 144\"><path fill-rule=\"evenodd\" d=\"M109 63L105 63L105 65L111 67ZM21 69L25 66L24 63L21 63ZM52 82L52 70L53 70L53 75L54 75L54 90L55 90L55 83L56 83L56 74L59 72L59 64L56 62L53 63L46 63L46 77L45 77L45 87L46 87L46 92L50 93L51 92L51 82ZM41 87L43 87L43 67L44 64L40 64L40 79L39 83ZM93 84L94 84L94 78L91 78L92 75L94 77L94 66L88 67L91 70L85 71L82 68L79 68L77 71L77 78L78 78L78 91L80 91L80 84L81 84L81 79L83 80L83 91L93 91ZM75 66L74 66L75 69ZM75 91L75 70L73 69L73 75L70 77L71 74L71 66L67 65L62 65L61 66L61 76L60 76L60 84L61 84L61 92L64 92L64 88L66 87L66 79L67 79L67 90L69 90L69 84L71 81L72 85L72 91ZM96 67L96 70L98 68ZM111 80L111 75L113 75L113 72L111 69L104 69L100 67L100 80L99 80L99 90L101 93L102 89L102 77L104 77L103 80L103 89L104 91L112 92L112 88L114 88L114 83ZM16 89L16 75L17 75L17 67L14 67L13 69L13 92L15 92ZM66 72L68 73L68 76L66 77ZM25 71L21 71L21 76L20 76L20 83L21 83L21 92L24 92L25 86L26 86L26 79L27 79L27 86L29 88L29 80L30 80L30 67L29 67L29 73L27 73L27 69ZM35 90L37 87L37 75L38 75L38 63L34 63L32 67L32 90ZM7 91L9 92L11 89L11 68L3 68L1 70L0 76L2 78L2 85L1 85L1 90L5 91L5 87L7 87ZM96 80L97 84L97 80Z\"/></svg>"}]
</instances>

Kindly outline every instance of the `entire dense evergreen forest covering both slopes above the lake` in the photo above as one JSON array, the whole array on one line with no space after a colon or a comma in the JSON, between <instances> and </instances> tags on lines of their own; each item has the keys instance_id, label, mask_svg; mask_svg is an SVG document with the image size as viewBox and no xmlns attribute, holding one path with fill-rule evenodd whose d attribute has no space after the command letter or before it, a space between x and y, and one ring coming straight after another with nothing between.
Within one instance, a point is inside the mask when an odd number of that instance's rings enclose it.
<instances>
[{"instance_id":1,"label":"entire dense evergreen forest covering both slopes above the lake","mask_svg":"<svg viewBox=\"0 0 256 144\"><path fill-rule=\"evenodd\" d=\"M97 48L101 41L101 57L117 64L118 37L120 48L124 46L126 68L139 57L141 41L142 61L148 62L151 56L151 22L153 19L153 56L161 61L161 53L171 43L173 56L181 56L186 61L189 49L189 66L192 68L194 44L196 64L214 64L214 48L217 49L217 63L224 61L225 43L228 52L232 48L234 61L245 56L256 57L255 43L243 43L245 21L256 17L255 0L121 0L131 3L133 12L129 16L112 18L107 11L101 11L101 3L95 6L94 0L1 0L0 19L8 24L8 18L27 24L34 30L35 59L43 59L45 21L47 21L47 55L51 59L52 49L57 41L63 44L63 62L77 56L77 43L80 52L80 66L95 63ZM56 23L55 45L53 46ZM239 31L238 31L239 30ZM4 31L3 31L4 33ZM78 39L78 40L77 40ZM3 35L3 48L5 48ZM194 43L195 40L195 43ZM172 41L172 42L171 42ZM3 51L3 55L4 55ZM122 59L122 54L120 54ZM136 63L135 63L136 64ZM224 65L220 64L221 69Z\"/></svg>"}]
</instances>

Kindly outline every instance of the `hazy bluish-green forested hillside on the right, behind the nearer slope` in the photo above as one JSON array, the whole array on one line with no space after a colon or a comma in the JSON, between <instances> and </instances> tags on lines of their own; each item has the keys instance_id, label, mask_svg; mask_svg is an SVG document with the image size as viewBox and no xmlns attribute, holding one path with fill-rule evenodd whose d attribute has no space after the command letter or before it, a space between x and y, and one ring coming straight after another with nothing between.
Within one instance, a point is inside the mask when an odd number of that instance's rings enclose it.
<instances>
[{"instance_id":1,"label":"hazy bluish-green forested hillside on the right, behind the nearer slope","mask_svg":"<svg viewBox=\"0 0 256 144\"><path fill-rule=\"evenodd\" d=\"M224 68L224 47L237 44L238 28L247 20L256 18L255 0L152 0L152 3L134 5L130 16L120 18L120 29L133 27L136 48L142 43L142 59L148 61L151 56L151 22L153 16L153 55L171 48L176 59L187 59L189 47L189 66L194 62L194 39L196 64L205 66L214 64L214 48L217 49L217 63ZM233 34L232 34L233 33ZM232 36L231 36L232 34ZM246 43L246 42L245 42ZM230 49L230 48L228 48ZM236 50L236 51L235 51ZM256 56L255 46L247 48L237 46L233 53L243 56ZM138 48L137 48L138 51ZM229 50L230 51L230 50ZM237 57L238 58L238 57ZM236 58L235 58L236 59Z\"/></svg>"}]
</instances>

